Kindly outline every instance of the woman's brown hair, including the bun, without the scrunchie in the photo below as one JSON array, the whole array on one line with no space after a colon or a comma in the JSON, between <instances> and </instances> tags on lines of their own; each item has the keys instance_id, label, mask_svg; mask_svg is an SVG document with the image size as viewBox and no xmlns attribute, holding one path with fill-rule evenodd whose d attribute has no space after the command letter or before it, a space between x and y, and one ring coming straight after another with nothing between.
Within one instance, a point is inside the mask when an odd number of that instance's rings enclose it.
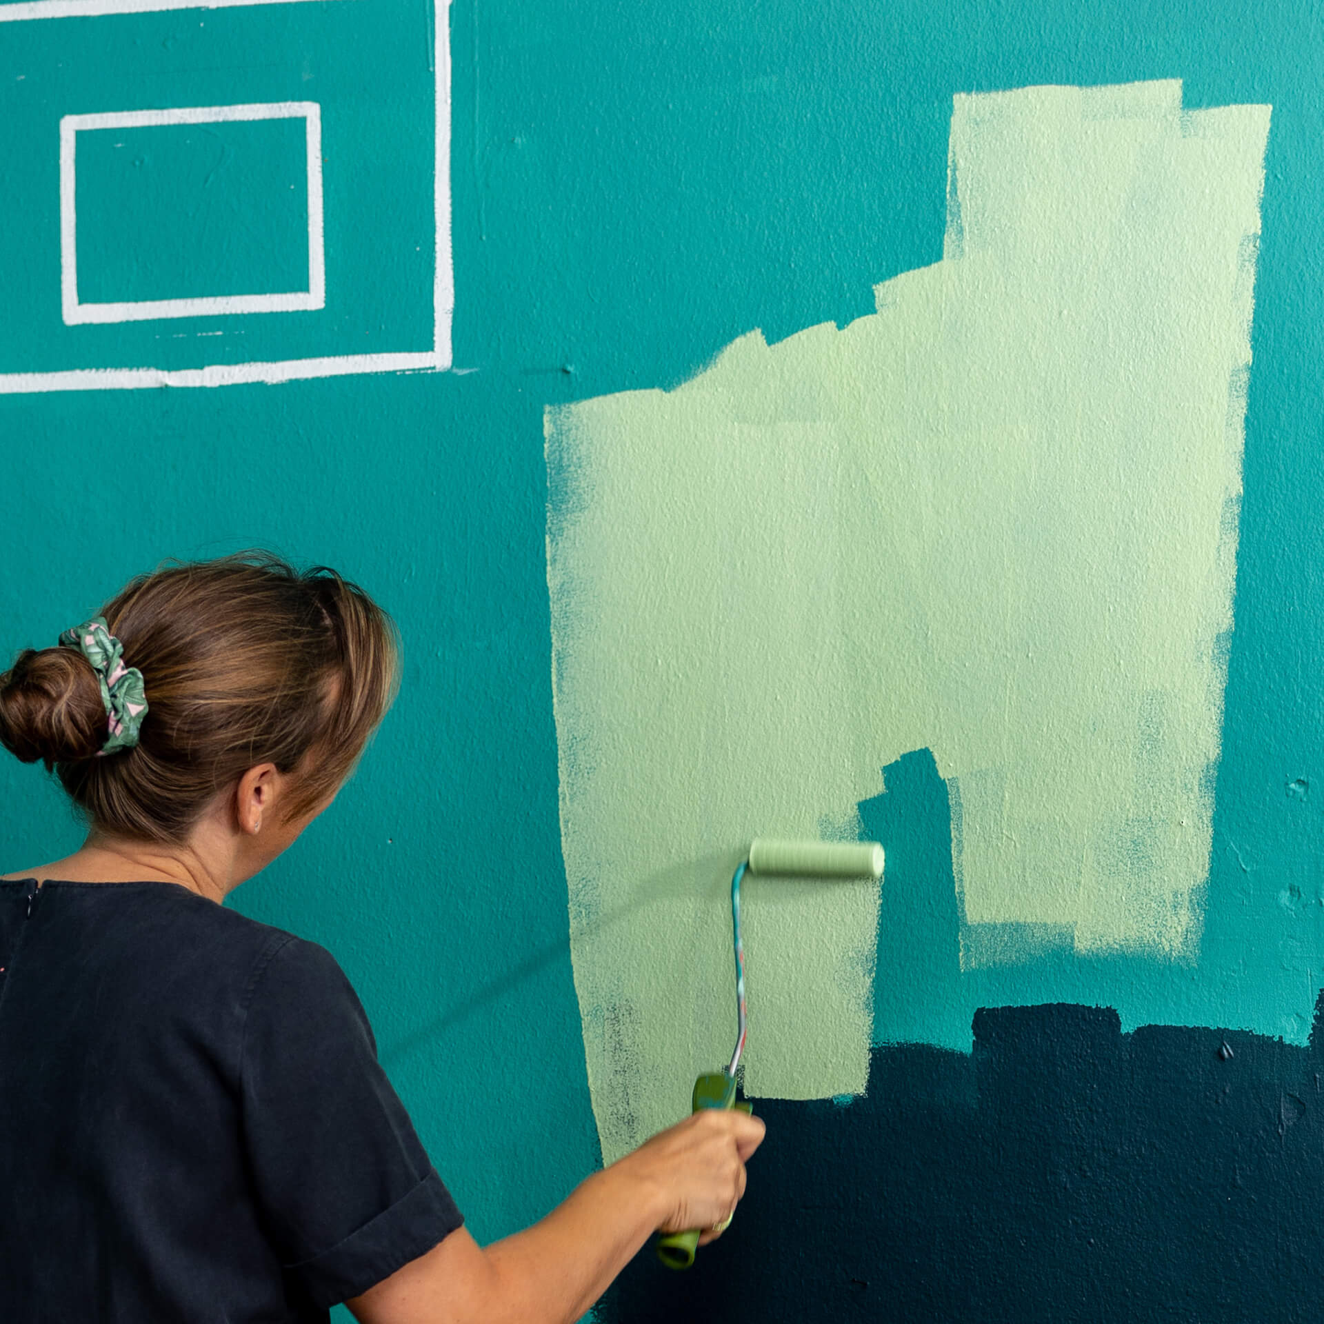
<instances>
[{"instance_id":1,"label":"woman's brown hair, including the bun, without the scrunchie","mask_svg":"<svg viewBox=\"0 0 1324 1324\"><path fill-rule=\"evenodd\" d=\"M139 743L97 757L101 687L66 646L25 649L0 675L0 743L54 769L91 826L115 837L181 843L261 763L298 768L286 814L308 813L350 775L399 686L391 617L324 565L299 573L267 552L168 561L99 614L143 673Z\"/></svg>"}]
</instances>

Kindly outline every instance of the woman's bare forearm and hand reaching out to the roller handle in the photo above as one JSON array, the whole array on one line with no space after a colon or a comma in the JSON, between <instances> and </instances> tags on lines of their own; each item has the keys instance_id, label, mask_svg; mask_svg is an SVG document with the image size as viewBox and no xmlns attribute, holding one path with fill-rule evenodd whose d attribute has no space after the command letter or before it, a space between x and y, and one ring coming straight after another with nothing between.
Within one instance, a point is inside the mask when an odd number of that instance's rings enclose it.
<instances>
[{"instance_id":1,"label":"woman's bare forearm and hand reaching out to the roller handle","mask_svg":"<svg viewBox=\"0 0 1324 1324\"><path fill-rule=\"evenodd\" d=\"M743 1112L696 1112L532 1227L486 1249L461 1227L346 1304L361 1324L571 1324L654 1231L712 1227L735 1209L763 1131Z\"/></svg>"}]
</instances>

